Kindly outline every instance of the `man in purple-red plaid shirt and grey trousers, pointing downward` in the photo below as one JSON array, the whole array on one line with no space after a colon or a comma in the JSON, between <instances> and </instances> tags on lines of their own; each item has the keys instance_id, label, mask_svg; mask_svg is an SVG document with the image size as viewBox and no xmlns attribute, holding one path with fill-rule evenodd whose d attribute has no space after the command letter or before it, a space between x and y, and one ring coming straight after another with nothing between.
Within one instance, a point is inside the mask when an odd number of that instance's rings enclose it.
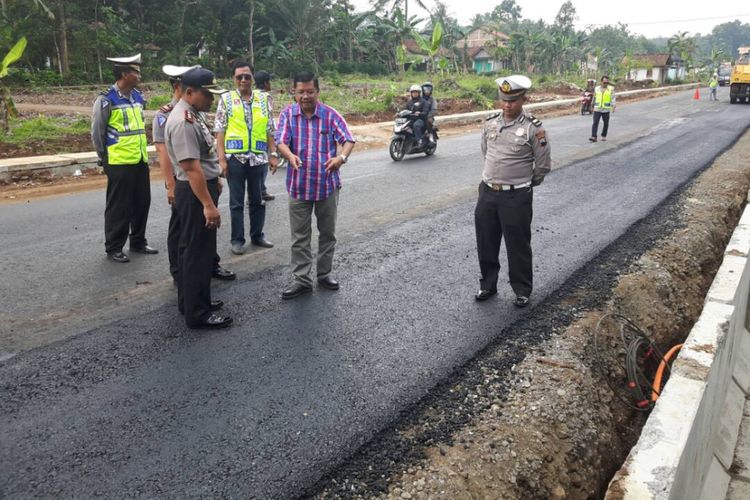
<instances>
[{"instance_id":1,"label":"man in purple-red plaid shirt and grey trousers, pointing downward","mask_svg":"<svg viewBox=\"0 0 750 500\"><path fill-rule=\"evenodd\" d=\"M293 299L312 291L312 212L318 225L318 284L338 290L331 276L336 249L336 210L341 175L339 169L354 149L354 137L344 118L330 106L318 102L320 86L312 73L294 76L295 104L279 116L276 148L289 162L286 189L289 193L289 225L292 229L292 274L294 282L283 291ZM338 151L341 146L341 152Z\"/></svg>"}]
</instances>

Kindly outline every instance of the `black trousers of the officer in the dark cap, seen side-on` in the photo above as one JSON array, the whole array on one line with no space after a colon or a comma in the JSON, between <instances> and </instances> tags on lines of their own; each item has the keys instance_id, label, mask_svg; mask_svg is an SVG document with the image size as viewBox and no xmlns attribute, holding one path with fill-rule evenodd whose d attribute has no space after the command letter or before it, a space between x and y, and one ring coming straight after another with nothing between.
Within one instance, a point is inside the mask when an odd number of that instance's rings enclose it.
<instances>
[{"instance_id":1,"label":"black trousers of the officer in the dark cap, seen side-on","mask_svg":"<svg viewBox=\"0 0 750 500\"><path fill-rule=\"evenodd\" d=\"M207 181L214 203L219 201L216 179ZM185 313L188 326L201 323L211 314L211 274L216 256L216 229L206 227L203 204L188 181L174 188L180 238L177 246L177 307Z\"/></svg>"}]
</instances>

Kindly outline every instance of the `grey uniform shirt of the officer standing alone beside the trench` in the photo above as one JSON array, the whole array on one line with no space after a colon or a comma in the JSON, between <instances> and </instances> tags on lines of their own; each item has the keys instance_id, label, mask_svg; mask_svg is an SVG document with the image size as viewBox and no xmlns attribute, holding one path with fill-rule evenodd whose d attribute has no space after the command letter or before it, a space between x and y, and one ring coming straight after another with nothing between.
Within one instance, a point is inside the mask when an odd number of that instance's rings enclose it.
<instances>
[{"instance_id":1,"label":"grey uniform shirt of the officer standing alone beside the trench","mask_svg":"<svg viewBox=\"0 0 750 500\"><path fill-rule=\"evenodd\" d=\"M525 184L532 178L540 182L551 166L548 141L541 122L523 113L507 124L502 113L490 117L482 130L482 180L511 185Z\"/></svg>"}]
</instances>

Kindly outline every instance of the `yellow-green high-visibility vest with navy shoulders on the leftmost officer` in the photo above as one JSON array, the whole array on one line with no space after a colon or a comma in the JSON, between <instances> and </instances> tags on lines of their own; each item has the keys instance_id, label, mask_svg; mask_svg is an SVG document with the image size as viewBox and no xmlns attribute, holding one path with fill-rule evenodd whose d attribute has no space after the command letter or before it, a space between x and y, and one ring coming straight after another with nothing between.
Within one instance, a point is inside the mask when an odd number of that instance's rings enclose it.
<instances>
[{"instance_id":1,"label":"yellow-green high-visibility vest with navy shoulders on the leftmost officer","mask_svg":"<svg viewBox=\"0 0 750 500\"><path fill-rule=\"evenodd\" d=\"M104 96L109 101L107 122L107 163L136 165L148 161L146 126L143 123L145 101L140 92L130 91L130 99L122 97L114 87Z\"/></svg>"}]
</instances>

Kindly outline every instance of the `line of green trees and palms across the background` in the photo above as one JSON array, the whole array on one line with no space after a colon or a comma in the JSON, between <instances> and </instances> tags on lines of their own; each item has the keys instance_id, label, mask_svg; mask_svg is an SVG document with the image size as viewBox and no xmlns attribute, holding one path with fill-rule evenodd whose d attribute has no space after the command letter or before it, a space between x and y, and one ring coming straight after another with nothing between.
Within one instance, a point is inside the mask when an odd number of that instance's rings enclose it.
<instances>
[{"instance_id":1,"label":"line of green trees and palms across the background","mask_svg":"<svg viewBox=\"0 0 750 500\"><path fill-rule=\"evenodd\" d=\"M646 39L624 24L577 30L570 0L551 24L525 19L515 0L502 0L468 26L440 0L372 0L365 12L348 0L0 0L0 10L0 49L28 39L11 81L31 83L107 82L105 58L136 52L146 79L160 78L162 64L202 64L224 76L236 59L280 75L302 68L392 74L403 71L408 40L435 42L436 31L439 47L426 51L441 59L434 67L467 72L460 40L479 27L507 35L487 50L508 70L537 74L582 74L592 60L599 73L617 74L624 56L658 52L690 67L715 66L750 45L750 24L740 21L668 39Z\"/></svg>"}]
</instances>

